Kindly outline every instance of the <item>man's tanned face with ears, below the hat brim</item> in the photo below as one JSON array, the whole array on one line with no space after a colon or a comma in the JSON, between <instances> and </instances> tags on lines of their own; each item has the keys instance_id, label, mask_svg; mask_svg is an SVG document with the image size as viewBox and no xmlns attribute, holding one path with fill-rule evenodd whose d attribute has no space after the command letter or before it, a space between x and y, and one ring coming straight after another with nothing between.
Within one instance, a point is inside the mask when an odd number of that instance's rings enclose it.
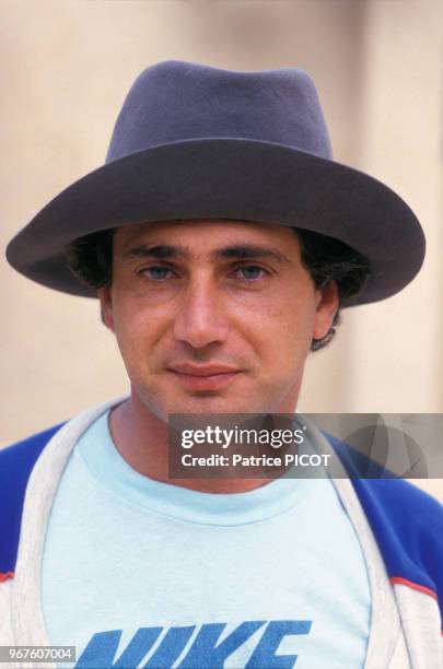
<instances>
[{"instance_id":1,"label":"man's tanned face with ears, below the hat brim","mask_svg":"<svg viewBox=\"0 0 443 669\"><path fill-rule=\"evenodd\" d=\"M292 412L312 339L337 309L291 228L221 220L118 228L100 298L132 395L163 419Z\"/></svg>"}]
</instances>

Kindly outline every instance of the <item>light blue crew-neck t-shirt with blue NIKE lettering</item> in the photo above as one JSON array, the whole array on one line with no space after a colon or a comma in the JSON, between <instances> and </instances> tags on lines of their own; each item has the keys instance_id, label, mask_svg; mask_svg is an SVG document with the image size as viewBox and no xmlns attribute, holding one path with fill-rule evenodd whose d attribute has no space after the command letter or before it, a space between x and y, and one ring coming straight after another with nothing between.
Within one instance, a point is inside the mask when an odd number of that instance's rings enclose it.
<instances>
[{"instance_id":1,"label":"light blue crew-neck t-shirt with blue NIKE lettering","mask_svg":"<svg viewBox=\"0 0 443 669\"><path fill-rule=\"evenodd\" d=\"M160 483L119 455L107 413L63 472L42 586L78 669L357 669L366 654L366 567L328 479Z\"/></svg>"}]
</instances>

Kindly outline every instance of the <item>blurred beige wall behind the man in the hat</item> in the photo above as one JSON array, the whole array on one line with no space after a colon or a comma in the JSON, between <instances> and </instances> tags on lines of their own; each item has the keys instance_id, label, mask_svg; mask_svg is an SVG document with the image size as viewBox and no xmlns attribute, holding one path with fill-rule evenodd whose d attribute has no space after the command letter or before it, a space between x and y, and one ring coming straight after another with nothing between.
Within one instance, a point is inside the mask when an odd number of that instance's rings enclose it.
<instances>
[{"instance_id":1,"label":"blurred beige wall behind the man in the hat","mask_svg":"<svg viewBox=\"0 0 443 669\"><path fill-rule=\"evenodd\" d=\"M1 246L104 161L135 77L178 58L314 78L336 160L386 181L428 238L403 293L345 312L311 356L304 412L443 412L440 0L1 0ZM128 389L94 301L0 261L2 444ZM425 483L442 494L439 482Z\"/></svg>"}]
</instances>

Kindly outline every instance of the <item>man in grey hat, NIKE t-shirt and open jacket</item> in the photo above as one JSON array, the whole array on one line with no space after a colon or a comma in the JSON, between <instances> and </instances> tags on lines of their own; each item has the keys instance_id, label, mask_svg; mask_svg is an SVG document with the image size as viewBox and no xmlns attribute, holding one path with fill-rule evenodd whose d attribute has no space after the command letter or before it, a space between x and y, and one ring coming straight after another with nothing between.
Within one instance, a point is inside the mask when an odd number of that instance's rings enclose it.
<instances>
[{"instance_id":1,"label":"man in grey hat, NIKE t-shirt and open jacket","mask_svg":"<svg viewBox=\"0 0 443 669\"><path fill-rule=\"evenodd\" d=\"M168 467L170 414L293 413L339 308L420 269L415 215L331 161L304 73L149 68L106 165L7 254L98 297L130 395L0 454L3 644L73 645L79 668L441 666L431 497ZM355 473L346 445L307 432L303 448Z\"/></svg>"}]
</instances>

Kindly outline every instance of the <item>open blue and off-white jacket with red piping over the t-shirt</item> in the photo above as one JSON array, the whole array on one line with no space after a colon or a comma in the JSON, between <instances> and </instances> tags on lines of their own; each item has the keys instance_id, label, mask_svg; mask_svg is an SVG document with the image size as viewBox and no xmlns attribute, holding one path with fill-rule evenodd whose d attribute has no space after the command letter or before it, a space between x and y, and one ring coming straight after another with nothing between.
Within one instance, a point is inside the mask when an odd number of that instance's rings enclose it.
<instances>
[{"instance_id":1,"label":"open blue and off-white jacket with red piping over the t-shirt","mask_svg":"<svg viewBox=\"0 0 443 669\"><path fill-rule=\"evenodd\" d=\"M51 503L77 441L118 401L90 409L0 451L1 645L50 644L42 611L40 568ZM371 562L380 560L385 587L395 602L400 644L394 644L386 632L386 625L394 629L395 623L383 617L380 572L372 583L370 577L372 632L364 669L442 669L442 505L400 479L359 478L360 456L312 430L317 434L316 447L338 456L348 474L333 482L354 524L369 573Z\"/></svg>"}]
</instances>

